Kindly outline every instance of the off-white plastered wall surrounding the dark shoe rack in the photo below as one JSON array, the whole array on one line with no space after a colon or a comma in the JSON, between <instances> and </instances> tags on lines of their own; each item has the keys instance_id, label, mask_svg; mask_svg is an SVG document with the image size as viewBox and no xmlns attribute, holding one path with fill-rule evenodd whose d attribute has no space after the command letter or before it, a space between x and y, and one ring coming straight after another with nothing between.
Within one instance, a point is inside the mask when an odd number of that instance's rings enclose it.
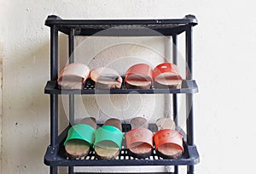
<instances>
[{"instance_id":1,"label":"off-white plastered wall surrounding the dark shoe rack","mask_svg":"<svg viewBox=\"0 0 256 174\"><path fill-rule=\"evenodd\" d=\"M200 93L195 94L195 143L201 154L195 171L253 171L253 1L9 0L1 1L0 9L3 174L49 171L43 162L49 144L49 96L44 94L49 80L49 28L44 20L49 14L63 19L181 18L195 14L199 25L194 30L194 77L200 87ZM66 40L61 36L61 41ZM61 45L63 57L65 47Z\"/></svg>"}]
</instances>

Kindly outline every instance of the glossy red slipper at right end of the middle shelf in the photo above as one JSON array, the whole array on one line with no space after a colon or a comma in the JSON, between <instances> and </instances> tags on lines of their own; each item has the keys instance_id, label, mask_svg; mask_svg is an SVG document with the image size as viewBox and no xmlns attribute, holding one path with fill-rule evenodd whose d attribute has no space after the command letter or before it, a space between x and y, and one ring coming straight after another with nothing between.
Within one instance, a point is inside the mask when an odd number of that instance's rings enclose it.
<instances>
[{"instance_id":1,"label":"glossy red slipper at right end of the middle shelf","mask_svg":"<svg viewBox=\"0 0 256 174\"><path fill-rule=\"evenodd\" d=\"M182 76L178 74L177 65L163 63L153 70L154 87L181 88Z\"/></svg>"}]
</instances>

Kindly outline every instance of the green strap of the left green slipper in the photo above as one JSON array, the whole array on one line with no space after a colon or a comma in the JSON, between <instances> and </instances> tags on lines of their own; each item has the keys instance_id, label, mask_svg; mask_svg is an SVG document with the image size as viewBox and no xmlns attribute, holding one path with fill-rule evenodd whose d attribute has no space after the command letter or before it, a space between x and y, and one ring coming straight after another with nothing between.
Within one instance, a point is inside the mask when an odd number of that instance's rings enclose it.
<instances>
[{"instance_id":1,"label":"green strap of the left green slipper","mask_svg":"<svg viewBox=\"0 0 256 174\"><path fill-rule=\"evenodd\" d=\"M72 139L81 139L92 145L95 139L95 129L86 124L74 125L68 130L67 139L64 142L64 145Z\"/></svg>"}]
</instances>

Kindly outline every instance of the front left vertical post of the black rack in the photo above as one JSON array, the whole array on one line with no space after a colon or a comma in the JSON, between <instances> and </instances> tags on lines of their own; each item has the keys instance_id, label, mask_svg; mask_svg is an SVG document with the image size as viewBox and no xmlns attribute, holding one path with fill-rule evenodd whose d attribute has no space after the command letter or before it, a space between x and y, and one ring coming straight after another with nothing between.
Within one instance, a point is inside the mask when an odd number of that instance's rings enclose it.
<instances>
[{"instance_id":1,"label":"front left vertical post of the black rack","mask_svg":"<svg viewBox=\"0 0 256 174\"><path fill-rule=\"evenodd\" d=\"M50 79L58 76L58 30L55 25L50 27ZM50 94L50 146L55 153L58 151L58 95ZM50 166L50 174L56 174L57 166Z\"/></svg>"}]
</instances>

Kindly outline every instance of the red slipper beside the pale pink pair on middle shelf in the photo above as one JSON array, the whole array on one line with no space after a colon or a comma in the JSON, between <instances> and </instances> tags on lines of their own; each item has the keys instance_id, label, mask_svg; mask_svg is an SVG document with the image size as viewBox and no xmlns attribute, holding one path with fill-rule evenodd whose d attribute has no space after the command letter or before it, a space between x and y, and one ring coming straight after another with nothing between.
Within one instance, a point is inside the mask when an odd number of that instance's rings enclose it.
<instances>
[{"instance_id":1,"label":"red slipper beside the pale pink pair on middle shelf","mask_svg":"<svg viewBox=\"0 0 256 174\"><path fill-rule=\"evenodd\" d=\"M150 89L152 86L153 70L149 65L132 65L125 73L127 88Z\"/></svg>"}]
</instances>

